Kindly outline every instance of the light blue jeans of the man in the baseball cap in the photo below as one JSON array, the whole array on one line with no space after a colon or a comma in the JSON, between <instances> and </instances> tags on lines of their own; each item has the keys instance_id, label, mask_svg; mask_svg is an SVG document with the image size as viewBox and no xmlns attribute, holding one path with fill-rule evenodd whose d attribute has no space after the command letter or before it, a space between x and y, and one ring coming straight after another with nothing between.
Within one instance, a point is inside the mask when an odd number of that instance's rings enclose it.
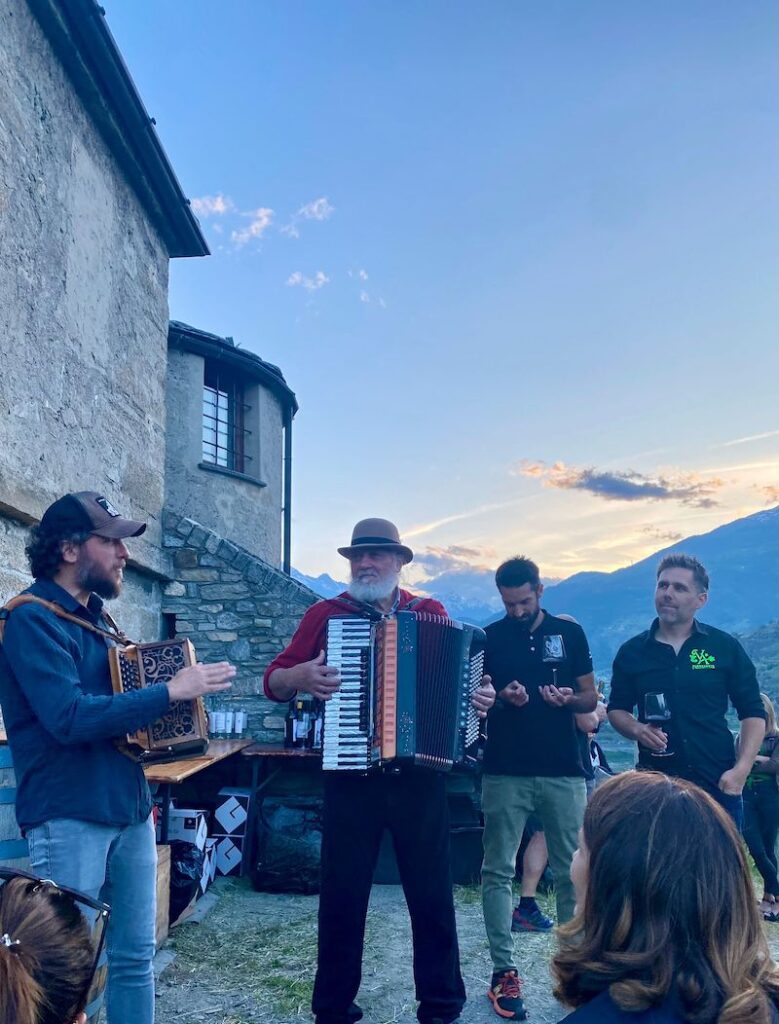
<instances>
[{"instance_id":1,"label":"light blue jeans of the man in the baseball cap","mask_svg":"<svg viewBox=\"0 0 779 1024\"><path fill-rule=\"evenodd\" d=\"M27 838L36 874L111 906L107 1024L154 1024L157 847L150 816L123 827L54 818L29 829Z\"/></svg>"}]
</instances>

